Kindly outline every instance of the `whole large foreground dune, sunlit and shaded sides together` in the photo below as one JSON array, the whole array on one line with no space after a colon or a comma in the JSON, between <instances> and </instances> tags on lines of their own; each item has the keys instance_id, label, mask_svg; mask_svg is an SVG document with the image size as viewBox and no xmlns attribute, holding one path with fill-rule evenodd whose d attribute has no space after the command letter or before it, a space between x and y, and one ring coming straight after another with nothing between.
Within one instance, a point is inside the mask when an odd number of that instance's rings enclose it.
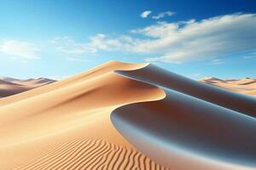
<instances>
[{"instance_id":1,"label":"whole large foreground dune, sunlit and shaded sides together","mask_svg":"<svg viewBox=\"0 0 256 170\"><path fill-rule=\"evenodd\" d=\"M0 99L1 169L256 168L256 99L111 61Z\"/></svg>"}]
</instances>

